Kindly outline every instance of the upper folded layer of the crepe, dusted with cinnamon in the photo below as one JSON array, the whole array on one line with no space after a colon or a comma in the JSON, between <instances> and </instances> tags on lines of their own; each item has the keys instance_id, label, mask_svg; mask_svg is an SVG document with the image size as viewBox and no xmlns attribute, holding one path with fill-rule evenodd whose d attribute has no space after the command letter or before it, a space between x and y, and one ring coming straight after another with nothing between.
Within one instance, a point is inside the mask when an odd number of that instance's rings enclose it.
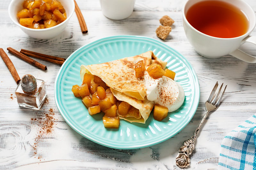
<instances>
[{"instance_id":1,"label":"upper folded layer of the crepe, dusted with cinnamon","mask_svg":"<svg viewBox=\"0 0 256 170\"><path fill-rule=\"evenodd\" d=\"M108 87L111 87L127 96L138 100L144 100L146 96L146 86L144 79L138 79L135 76L134 65L143 60L147 68L152 63L158 63L164 69L167 62L158 59L153 51L148 51L140 55L126 57L102 64L93 64L81 66L81 79L84 73L90 72L92 75L100 77Z\"/></svg>"}]
</instances>

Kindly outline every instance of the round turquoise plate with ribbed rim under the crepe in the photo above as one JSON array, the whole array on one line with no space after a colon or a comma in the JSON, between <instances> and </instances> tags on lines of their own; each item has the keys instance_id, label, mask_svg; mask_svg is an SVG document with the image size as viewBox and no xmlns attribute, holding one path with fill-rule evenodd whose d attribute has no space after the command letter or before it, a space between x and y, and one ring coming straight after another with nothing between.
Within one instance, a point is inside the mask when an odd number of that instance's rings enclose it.
<instances>
[{"instance_id":1,"label":"round turquoise plate with ribbed rim under the crepe","mask_svg":"<svg viewBox=\"0 0 256 170\"><path fill-rule=\"evenodd\" d=\"M167 61L167 68L176 72L185 91L185 101L179 110L169 113L161 122L150 114L146 124L120 120L118 129L106 129L102 113L90 116L81 98L74 97L71 88L81 85L81 64L98 64L152 50ZM112 36L93 41L72 53L61 66L55 80L54 96L65 121L79 134L100 145L116 149L135 149L158 144L182 130L194 116L199 103L199 83L196 73L179 52L156 39L141 36Z\"/></svg>"}]
</instances>

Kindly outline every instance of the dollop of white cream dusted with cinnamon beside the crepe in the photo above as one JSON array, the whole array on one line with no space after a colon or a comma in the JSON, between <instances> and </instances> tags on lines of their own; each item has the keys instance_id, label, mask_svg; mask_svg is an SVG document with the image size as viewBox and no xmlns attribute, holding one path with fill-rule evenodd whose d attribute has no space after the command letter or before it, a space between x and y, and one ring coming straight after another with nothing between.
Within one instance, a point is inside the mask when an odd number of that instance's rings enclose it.
<instances>
[{"instance_id":1,"label":"dollop of white cream dusted with cinnamon beside the crepe","mask_svg":"<svg viewBox=\"0 0 256 170\"><path fill-rule=\"evenodd\" d=\"M169 77L153 79L147 71L144 72L147 99L168 108L168 112L180 108L185 99L184 89Z\"/></svg>"}]
</instances>

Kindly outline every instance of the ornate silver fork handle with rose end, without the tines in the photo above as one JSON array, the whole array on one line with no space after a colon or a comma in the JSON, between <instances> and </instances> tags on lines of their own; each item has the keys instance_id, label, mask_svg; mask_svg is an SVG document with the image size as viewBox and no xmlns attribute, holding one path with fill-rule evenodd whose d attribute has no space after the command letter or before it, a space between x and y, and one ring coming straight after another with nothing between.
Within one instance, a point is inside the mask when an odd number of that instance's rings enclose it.
<instances>
[{"instance_id":1,"label":"ornate silver fork handle with rose end, without the tines","mask_svg":"<svg viewBox=\"0 0 256 170\"><path fill-rule=\"evenodd\" d=\"M204 114L204 117L202 118L200 124L195 130L194 136L192 136L190 139L184 141L183 146L180 147L179 149L179 154L176 157L176 164L180 168L187 168L190 165L190 158L189 155L192 154L192 152L195 149L195 141L196 141L196 135L199 133L201 126L204 123L204 120L208 116L210 111L206 111Z\"/></svg>"}]
</instances>

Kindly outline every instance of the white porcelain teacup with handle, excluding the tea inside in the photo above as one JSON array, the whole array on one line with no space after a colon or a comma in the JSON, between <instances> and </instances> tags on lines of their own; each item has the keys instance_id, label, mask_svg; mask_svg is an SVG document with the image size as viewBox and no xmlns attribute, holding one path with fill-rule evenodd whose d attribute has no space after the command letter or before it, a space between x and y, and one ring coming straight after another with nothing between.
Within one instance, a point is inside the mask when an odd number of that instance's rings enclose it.
<instances>
[{"instance_id":1,"label":"white porcelain teacup with handle, excluding the tea inside","mask_svg":"<svg viewBox=\"0 0 256 170\"><path fill-rule=\"evenodd\" d=\"M245 34L239 37L217 38L196 30L192 25L189 24L186 18L186 13L188 9L192 5L201 1L205 0L188 0L182 9L183 28L188 41L194 47L196 52L204 57L212 59L220 58L224 55L230 54L240 60L249 63L256 63L255 57L247 53L244 53L243 51L238 49L239 46L241 46L245 42L250 42L256 45L256 36L250 36L251 32L253 31L256 25L256 15L253 9L243 0L221 0L229 4L233 4L237 8L241 9L248 18L249 28Z\"/></svg>"}]
</instances>

